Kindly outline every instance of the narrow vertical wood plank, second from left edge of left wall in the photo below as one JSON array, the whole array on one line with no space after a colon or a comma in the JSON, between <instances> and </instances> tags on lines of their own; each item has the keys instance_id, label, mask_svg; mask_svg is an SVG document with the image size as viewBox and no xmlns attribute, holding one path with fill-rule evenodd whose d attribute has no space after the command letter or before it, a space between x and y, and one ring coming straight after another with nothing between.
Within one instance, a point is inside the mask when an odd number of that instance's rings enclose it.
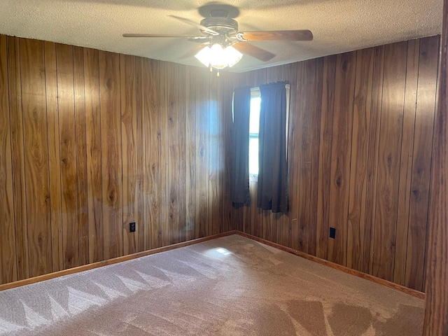
<instances>
[{"instance_id":1,"label":"narrow vertical wood plank, second from left edge of left wall","mask_svg":"<svg viewBox=\"0 0 448 336\"><path fill-rule=\"evenodd\" d=\"M22 80L20 73L20 39L9 37L8 92L13 169L13 204L15 248L18 280L29 277L27 195L25 186L25 153L22 114ZM1 55L4 57L4 55ZM3 62L3 61L2 61Z\"/></svg>"}]
</instances>

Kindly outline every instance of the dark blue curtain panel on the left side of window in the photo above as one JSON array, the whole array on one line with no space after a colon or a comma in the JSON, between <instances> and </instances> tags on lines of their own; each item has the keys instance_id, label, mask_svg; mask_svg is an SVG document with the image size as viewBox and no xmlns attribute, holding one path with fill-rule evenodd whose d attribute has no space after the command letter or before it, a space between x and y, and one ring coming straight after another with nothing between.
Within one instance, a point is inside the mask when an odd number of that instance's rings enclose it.
<instances>
[{"instance_id":1,"label":"dark blue curtain panel on the left side of window","mask_svg":"<svg viewBox=\"0 0 448 336\"><path fill-rule=\"evenodd\" d=\"M230 156L230 197L237 207L249 204L249 115L251 88L239 87L233 96L232 147Z\"/></svg>"}]
</instances>

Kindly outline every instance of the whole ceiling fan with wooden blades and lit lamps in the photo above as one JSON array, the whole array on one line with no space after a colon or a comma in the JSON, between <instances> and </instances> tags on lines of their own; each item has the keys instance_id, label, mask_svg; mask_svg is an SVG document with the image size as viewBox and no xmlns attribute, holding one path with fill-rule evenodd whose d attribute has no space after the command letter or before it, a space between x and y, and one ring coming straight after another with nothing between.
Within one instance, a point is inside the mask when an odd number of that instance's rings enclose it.
<instances>
[{"instance_id":1,"label":"whole ceiling fan with wooden blades and lit lamps","mask_svg":"<svg viewBox=\"0 0 448 336\"><path fill-rule=\"evenodd\" d=\"M275 57L275 54L248 43L250 41L311 41L313 34L309 30L276 30L276 31L238 31L238 22L235 17L239 13L232 6L212 8L208 10L208 17L200 24L186 18L170 15L172 18L186 22L200 29L202 35L190 36L181 34L123 34L123 37L155 37L155 38L188 38L188 41L198 42L183 58L195 55L205 66L219 70L226 66L233 66L243 56L250 55L263 62ZM200 8L204 13L204 8ZM232 13L232 15L230 15Z\"/></svg>"}]
</instances>

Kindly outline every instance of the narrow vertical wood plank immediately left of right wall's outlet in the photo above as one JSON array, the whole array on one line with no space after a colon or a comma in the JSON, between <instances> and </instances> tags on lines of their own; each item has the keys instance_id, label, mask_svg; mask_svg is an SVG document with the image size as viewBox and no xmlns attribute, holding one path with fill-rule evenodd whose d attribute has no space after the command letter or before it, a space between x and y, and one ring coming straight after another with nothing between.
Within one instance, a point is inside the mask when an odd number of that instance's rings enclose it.
<instances>
[{"instance_id":1,"label":"narrow vertical wood plank immediately left of right wall's outlet","mask_svg":"<svg viewBox=\"0 0 448 336\"><path fill-rule=\"evenodd\" d=\"M335 105L336 56L325 57L323 62L323 88L321 111L321 139L319 146L318 199L316 223L316 256L328 257L330 230L331 144L333 109Z\"/></svg>"}]
</instances>

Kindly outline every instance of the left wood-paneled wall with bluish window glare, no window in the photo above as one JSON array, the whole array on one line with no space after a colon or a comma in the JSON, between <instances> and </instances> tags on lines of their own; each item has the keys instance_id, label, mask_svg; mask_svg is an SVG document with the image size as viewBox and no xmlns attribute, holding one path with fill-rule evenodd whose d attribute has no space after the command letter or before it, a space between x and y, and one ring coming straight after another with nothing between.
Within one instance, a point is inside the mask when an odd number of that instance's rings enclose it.
<instances>
[{"instance_id":1,"label":"left wood-paneled wall with bluish window glare, no window","mask_svg":"<svg viewBox=\"0 0 448 336\"><path fill-rule=\"evenodd\" d=\"M1 35L0 283L223 230L219 85Z\"/></svg>"}]
</instances>

